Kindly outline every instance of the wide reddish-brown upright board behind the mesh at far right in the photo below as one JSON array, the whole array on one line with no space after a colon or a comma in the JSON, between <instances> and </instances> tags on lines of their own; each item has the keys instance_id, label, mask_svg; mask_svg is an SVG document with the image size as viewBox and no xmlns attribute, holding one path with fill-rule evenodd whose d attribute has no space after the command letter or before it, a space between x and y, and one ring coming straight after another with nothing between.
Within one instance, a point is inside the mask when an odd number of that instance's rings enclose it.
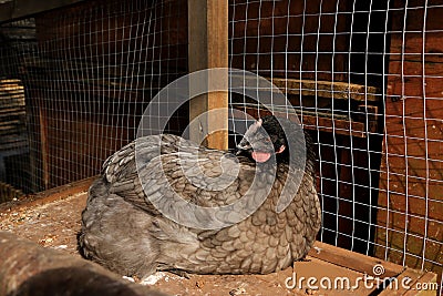
<instances>
[{"instance_id":1,"label":"wide reddish-brown upright board behind the mesh at far right","mask_svg":"<svg viewBox=\"0 0 443 296\"><path fill-rule=\"evenodd\" d=\"M405 27L404 1L393 2L375 255L441 274L443 1L425 20L419 2L409 3Z\"/></svg>"}]
</instances>

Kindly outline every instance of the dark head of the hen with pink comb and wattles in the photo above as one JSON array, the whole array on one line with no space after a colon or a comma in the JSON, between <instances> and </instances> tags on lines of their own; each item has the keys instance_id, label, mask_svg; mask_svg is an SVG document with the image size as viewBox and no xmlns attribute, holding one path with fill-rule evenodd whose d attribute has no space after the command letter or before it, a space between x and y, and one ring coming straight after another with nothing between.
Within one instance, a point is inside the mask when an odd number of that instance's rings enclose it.
<instances>
[{"instance_id":1,"label":"dark head of the hen with pink comb and wattles","mask_svg":"<svg viewBox=\"0 0 443 296\"><path fill-rule=\"evenodd\" d=\"M256 163L266 163L272 155L277 162L289 161L288 141L279 121L265 116L254 123L237 145L237 155L246 155Z\"/></svg>"}]
</instances>

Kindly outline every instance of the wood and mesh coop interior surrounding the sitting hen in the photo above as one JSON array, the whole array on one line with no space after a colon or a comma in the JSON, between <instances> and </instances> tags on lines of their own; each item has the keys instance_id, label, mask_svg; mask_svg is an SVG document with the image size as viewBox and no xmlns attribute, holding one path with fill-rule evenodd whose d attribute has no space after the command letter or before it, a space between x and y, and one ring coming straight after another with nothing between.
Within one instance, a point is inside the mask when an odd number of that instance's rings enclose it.
<instances>
[{"instance_id":1,"label":"wood and mesh coop interior surrounding the sitting hen","mask_svg":"<svg viewBox=\"0 0 443 296\"><path fill-rule=\"evenodd\" d=\"M389 276L406 273L431 287L401 295L439 294L442 16L442 0L0 1L0 229L80 258L87 187L107 156L137 136L153 98L197 70L240 69L272 82L289 104L269 110L236 93L209 94L182 104L162 132L181 135L214 106L227 112L210 120L227 125L295 112L317 154L317 248L310 262L277 274L163 274L150 288L389 295L380 285L285 287L292 269L357 277L382 264ZM241 140L214 136L205 143L217 149Z\"/></svg>"}]
</instances>

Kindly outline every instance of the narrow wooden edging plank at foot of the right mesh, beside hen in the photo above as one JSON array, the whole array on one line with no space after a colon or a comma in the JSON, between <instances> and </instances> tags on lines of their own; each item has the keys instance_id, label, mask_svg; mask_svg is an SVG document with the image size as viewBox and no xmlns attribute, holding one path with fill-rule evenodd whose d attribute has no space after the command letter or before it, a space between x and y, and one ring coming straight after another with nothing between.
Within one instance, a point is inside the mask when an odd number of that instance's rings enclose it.
<instances>
[{"instance_id":1,"label":"narrow wooden edging plank at foot of the right mesh, beside hen","mask_svg":"<svg viewBox=\"0 0 443 296\"><path fill-rule=\"evenodd\" d=\"M363 254L354 253L344 248L334 247L321 242L316 242L315 248L309 251L309 256L321 261L333 263L363 274L374 276L373 267L382 265L384 267L383 277L398 276L404 267L394 263L384 262L379 258L369 257ZM352 258L352 259L350 259Z\"/></svg>"}]
</instances>

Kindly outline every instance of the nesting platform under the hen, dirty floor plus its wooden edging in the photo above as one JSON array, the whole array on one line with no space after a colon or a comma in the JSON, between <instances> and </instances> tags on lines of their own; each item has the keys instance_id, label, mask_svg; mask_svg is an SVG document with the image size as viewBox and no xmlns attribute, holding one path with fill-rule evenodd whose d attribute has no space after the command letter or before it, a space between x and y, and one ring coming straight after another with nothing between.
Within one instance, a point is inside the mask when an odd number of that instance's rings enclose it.
<instances>
[{"instance_id":1,"label":"nesting platform under the hen, dirty floor plus its wooden edging","mask_svg":"<svg viewBox=\"0 0 443 296\"><path fill-rule=\"evenodd\" d=\"M80 229L81 212L87 198L85 188L90 183L90 180L78 182L42 193L32 201L19 200L2 204L0 231L11 232L43 247L80 258L76 234ZM296 262L293 267L269 275L188 275L189 278L185 278L158 272L144 282L140 278L126 279L148 285L167 295L372 295L374 292L384 295L383 288L377 285L372 288L362 285L352 288L352 283L356 283L358 277L371 275L373 266L378 264L384 268L383 277L410 276L413 280L411 284L436 280L436 275L432 273L415 272L322 243L316 244L306 261ZM312 289L307 286L307 280L301 282L301 287L292 280L315 276L328 277L333 282L338 275L349 278L351 285L339 290L321 287ZM291 279L288 280L288 277ZM390 292L392 289L389 287L384 289L384 293ZM398 293L402 295L402 289Z\"/></svg>"}]
</instances>

